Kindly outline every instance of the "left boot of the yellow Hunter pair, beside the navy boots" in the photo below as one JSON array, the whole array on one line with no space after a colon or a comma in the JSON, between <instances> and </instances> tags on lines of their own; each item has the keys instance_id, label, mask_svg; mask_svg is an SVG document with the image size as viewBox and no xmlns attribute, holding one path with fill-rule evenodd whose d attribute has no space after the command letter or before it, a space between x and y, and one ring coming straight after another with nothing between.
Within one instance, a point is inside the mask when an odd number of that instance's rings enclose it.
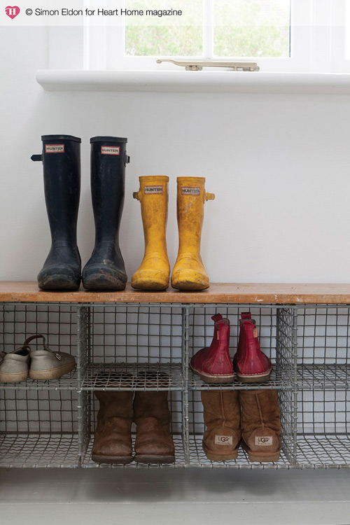
<instances>
[{"instance_id":1,"label":"left boot of the yellow Hunter pair, beside the navy boots","mask_svg":"<svg viewBox=\"0 0 350 525\"><path fill-rule=\"evenodd\" d=\"M132 276L132 288L137 290L166 290L170 266L167 255L168 182L166 176L139 177L140 189L134 199L141 202L144 223L145 255L141 266Z\"/></svg>"}]
</instances>

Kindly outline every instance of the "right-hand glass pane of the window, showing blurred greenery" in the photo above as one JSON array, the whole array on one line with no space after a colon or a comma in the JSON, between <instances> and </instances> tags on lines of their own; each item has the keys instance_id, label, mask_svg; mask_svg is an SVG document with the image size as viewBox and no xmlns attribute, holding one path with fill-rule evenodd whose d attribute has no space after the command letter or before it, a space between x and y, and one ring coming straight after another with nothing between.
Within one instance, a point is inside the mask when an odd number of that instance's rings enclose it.
<instances>
[{"instance_id":1,"label":"right-hand glass pane of the window, showing blurred greenery","mask_svg":"<svg viewBox=\"0 0 350 525\"><path fill-rule=\"evenodd\" d=\"M216 57L289 57L290 0L214 0Z\"/></svg>"}]
</instances>

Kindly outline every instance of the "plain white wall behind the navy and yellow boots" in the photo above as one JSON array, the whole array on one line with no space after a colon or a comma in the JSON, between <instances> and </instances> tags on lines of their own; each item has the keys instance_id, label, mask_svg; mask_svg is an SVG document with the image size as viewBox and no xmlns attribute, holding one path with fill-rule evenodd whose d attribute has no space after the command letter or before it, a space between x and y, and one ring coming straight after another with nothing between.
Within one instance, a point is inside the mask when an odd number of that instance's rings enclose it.
<instances>
[{"instance_id":1,"label":"plain white wall behind the navy and yellow boots","mask_svg":"<svg viewBox=\"0 0 350 525\"><path fill-rule=\"evenodd\" d=\"M143 255L138 176L170 177L168 251L177 251L176 176L205 176L202 258L213 282L350 281L350 97L43 92L43 28L1 28L0 280L35 280L50 247L41 134L83 139L78 244L94 244L90 137L128 137L121 248Z\"/></svg>"}]
</instances>

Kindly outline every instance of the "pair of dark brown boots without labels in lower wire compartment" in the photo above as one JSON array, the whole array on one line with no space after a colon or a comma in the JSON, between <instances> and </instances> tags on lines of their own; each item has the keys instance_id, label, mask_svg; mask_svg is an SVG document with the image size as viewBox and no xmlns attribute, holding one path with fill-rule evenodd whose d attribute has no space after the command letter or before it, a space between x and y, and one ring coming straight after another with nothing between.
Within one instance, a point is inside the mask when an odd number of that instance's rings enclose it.
<instances>
[{"instance_id":1,"label":"pair of dark brown boots without labels in lower wire compartment","mask_svg":"<svg viewBox=\"0 0 350 525\"><path fill-rule=\"evenodd\" d=\"M174 463L167 391L95 391L99 400L92 461ZM133 401L134 397L134 401ZM132 423L137 435L132 450Z\"/></svg>"}]
</instances>

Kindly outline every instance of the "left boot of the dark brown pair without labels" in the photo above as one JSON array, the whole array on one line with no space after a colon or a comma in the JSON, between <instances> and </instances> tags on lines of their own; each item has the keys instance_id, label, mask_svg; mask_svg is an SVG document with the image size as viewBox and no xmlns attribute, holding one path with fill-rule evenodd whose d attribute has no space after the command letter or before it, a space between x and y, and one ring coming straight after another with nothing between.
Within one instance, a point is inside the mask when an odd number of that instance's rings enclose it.
<instances>
[{"instance_id":1,"label":"left boot of the dark brown pair without labels","mask_svg":"<svg viewBox=\"0 0 350 525\"><path fill-rule=\"evenodd\" d=\"M95 391L99 400L92 461L130 463L132 457L132 398L134 392Z\"/></svg>"}]
</instances>

